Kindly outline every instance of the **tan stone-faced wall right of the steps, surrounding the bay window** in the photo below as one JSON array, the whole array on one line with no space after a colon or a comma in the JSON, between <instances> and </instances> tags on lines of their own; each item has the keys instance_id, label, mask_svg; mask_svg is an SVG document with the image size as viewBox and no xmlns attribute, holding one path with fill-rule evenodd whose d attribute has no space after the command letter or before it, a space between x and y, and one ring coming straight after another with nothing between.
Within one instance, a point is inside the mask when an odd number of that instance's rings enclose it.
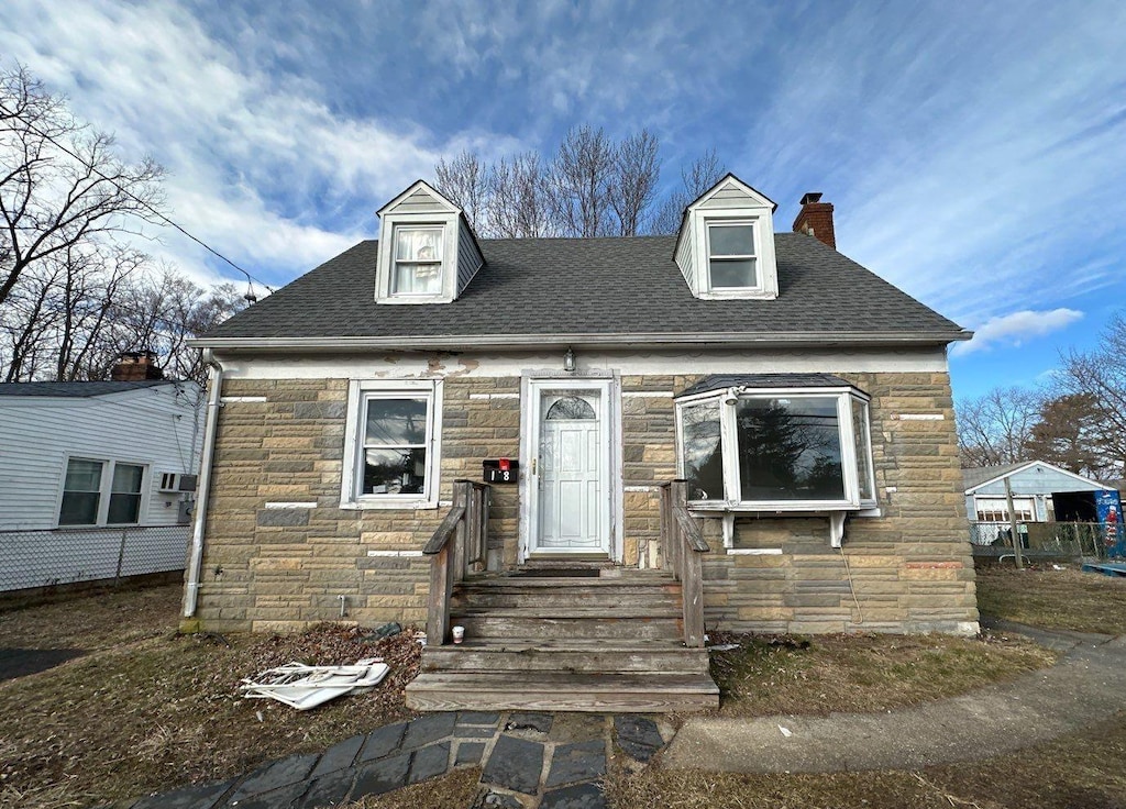
<instances>
[{"instance_id":1,"label":"tan stone-faced wall right of the steps, surrounding the bay window","mask_svg":"<svg viewBox=\"0 0 1126 809\"><path fill-rule=\"evenodd\" d=\"M707 626L765 632L976 631L948 376L840 376L872 395L882 515L850 516L842 549L830 547L824 516L741 518L732 554L722 550L718 521L706 520L705 533L717 549L704 563ZM781 552L745 552L752 549Z\"/></svg>"}]
</instances>

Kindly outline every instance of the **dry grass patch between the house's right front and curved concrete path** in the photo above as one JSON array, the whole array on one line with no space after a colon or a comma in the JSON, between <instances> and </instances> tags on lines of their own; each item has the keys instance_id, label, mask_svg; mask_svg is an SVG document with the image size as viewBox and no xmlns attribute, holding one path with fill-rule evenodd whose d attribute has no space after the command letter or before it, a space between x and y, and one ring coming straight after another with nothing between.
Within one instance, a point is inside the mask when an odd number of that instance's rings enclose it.
<instances>
[{"instance_id":1,"label":"dry grass patch between the house's right front and curved concrete path","mask_svg":"<svg viewBox=\"0 0 1126 809\"><path fill-rule=\"evenodd\" d=\"M1056 655L1017 636L753 636L713 632L718 714L886 711L945 699L1049 666Z\"/></svg>"}]
</instances>

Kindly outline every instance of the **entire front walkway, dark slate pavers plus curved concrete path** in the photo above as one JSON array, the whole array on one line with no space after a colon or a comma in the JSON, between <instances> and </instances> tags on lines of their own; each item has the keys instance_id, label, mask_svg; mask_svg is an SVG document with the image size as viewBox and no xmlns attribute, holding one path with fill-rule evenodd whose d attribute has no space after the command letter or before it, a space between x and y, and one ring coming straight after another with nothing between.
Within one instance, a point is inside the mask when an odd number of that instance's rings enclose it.
<instances>
[{"instance_id":1,"label":"entire front walkway, dark slate pavers plus curved concrete path","mask_svg":"<svg viewBox=\"0 0 1126 809\"><path fill-rule=\"evenodd\" d=\"M1052 668L1013 682L908 710L694 717L674 739L660 718L637 714L429 713L323 754L289 756L240 779L115 809L314 809L479 765L481 785L466 809L599 809L615 753L649 762L663 750L663 767L742 773L909 770L1022 749L1126 710L1126 637L992 626L1064 655Z\"/></svg>"}]
</instances>

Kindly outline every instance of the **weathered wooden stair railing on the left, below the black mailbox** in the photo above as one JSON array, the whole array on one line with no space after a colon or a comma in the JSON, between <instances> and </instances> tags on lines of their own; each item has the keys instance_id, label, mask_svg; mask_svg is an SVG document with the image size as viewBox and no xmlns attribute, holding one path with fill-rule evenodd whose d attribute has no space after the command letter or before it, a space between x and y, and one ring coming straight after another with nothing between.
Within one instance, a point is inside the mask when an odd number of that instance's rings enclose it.
<instances>
[{"instance_id":1,"label":"weathered wooden stair railing on the left, below the black mailbox","mask_svg":"<svg viewBox=\"0 0 1126 809\"><path fill-rule=\"evenodd\" d=\"M430 559L430 599L426 638L441 646L449 635L449 599L454 584L485 566L489 540L490 486L477 480L454 480L454 504L422 552Z\"/></svg>"}]
</instances>

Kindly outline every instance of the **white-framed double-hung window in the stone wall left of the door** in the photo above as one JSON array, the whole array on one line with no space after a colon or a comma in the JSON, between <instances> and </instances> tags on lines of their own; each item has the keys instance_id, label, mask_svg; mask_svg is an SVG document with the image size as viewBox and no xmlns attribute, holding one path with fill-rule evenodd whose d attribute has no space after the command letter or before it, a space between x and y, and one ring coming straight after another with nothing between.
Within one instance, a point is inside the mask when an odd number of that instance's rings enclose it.
<instances>
[{"instance_id":1,"label":"white-framed double-hung window in the stone wall left of the door","mask_svg":"<svg viewBox=\"0 0 1126 809\"><path fill-rule=\"evenodd\" d=\"M440 390L438 380L352 383L342 506L437 506Z\"/></svg>"}]
</instances>

